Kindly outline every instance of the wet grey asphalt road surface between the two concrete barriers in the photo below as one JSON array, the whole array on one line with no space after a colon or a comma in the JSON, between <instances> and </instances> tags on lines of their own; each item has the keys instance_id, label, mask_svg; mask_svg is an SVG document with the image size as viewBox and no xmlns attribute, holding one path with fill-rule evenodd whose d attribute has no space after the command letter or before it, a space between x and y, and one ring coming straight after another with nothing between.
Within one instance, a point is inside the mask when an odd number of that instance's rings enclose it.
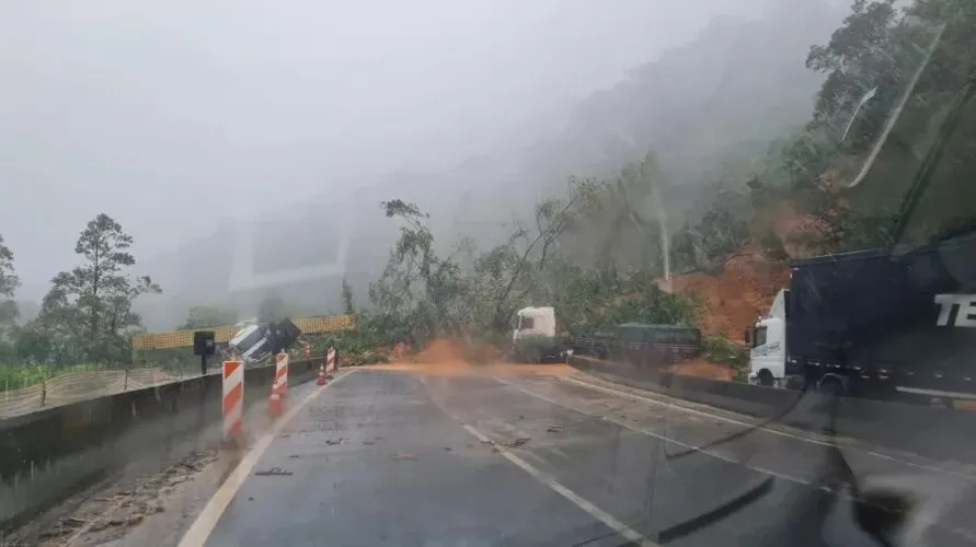
<instances>
[{"instance_id":1,"label":"wet grey asphalt road surface between the two concrete barriers","mask_svg":"<svg viewBox=\"0 0 976 547\"><path fill-rule=\"evenodd\" d=\"M823 445L757 433L665 457L739 429L551 376L360 370L287 424L206 545L633 545L613 522L648 545L801 545L797 534L872 545L845 510L805 532L790 511L827 496L805 484L824 466ZM856 472L917 470L865 453L850 461ZM285 475L262 475L276 467ZM761 493L731 515L685 526L750 491ZM931 545L974 545L964 514L933 519Z\"/></svg>"}]
</instances>

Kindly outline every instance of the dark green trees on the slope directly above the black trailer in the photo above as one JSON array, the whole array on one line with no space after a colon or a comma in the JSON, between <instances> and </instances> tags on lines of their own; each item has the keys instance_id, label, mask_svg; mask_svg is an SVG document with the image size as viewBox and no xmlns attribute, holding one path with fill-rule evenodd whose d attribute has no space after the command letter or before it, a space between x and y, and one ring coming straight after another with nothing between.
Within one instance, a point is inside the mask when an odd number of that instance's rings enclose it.
<instances>
[{"instance_id":1,"label":"dark green trees on the slope directly above the black trailer","mask_svg":"<svg viewBox=\"0 0 976 547\"><path fill-rule=\"evenodd\" d=\"M784 154L794 201L817 228L801 238L809 252L922 243L976 218L963 183L976 170L976 109L965 95L974 5L857 0L811 48L807 66L827 79Z\"/></svg>"}]
</instances>

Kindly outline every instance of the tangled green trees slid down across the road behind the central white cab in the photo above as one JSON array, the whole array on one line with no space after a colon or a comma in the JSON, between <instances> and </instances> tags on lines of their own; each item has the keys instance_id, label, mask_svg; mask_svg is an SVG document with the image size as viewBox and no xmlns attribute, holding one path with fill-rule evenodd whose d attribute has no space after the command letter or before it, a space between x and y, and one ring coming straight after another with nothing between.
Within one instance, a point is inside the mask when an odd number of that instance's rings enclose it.
<instances>
[{"instance_id":1,"label":"tangled green trees slid down across the road behind the central white cab","mask_svg":"<svg viewBox=\"0 0 976 547\"><path fill-rule=\"evenodd\" d=\"M438 255L426 213L414 203L383 202L387 216L403 222L400 240L370 287L372 309L359 311L358 331L348 335L358 341L346 342L417 347L441 336L500 342L515 312L528 305L553 305L562 329L628 321L692 324L694 303L657 288L659 263L621 268L604 254L585 266L573 256L575 237L593 236L601 222L610 228L596 241L610 246L623 226L647 225L630 198L648 191L639 183L647 179L648 165L628 167L613 184L571 179L566 198L540 200L532 222L515 222L503 243L482 253L462 240L451 254Z\"/></svg>"}]
</instances>

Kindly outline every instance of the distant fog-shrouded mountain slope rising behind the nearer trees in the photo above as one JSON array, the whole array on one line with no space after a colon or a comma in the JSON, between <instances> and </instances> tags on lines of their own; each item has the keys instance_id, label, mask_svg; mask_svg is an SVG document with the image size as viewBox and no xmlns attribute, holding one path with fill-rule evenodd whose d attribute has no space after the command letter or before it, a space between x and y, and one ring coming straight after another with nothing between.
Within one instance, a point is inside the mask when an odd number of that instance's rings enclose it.
<instances>
[{"instance_id":1,"label":"distant fog-shrouded mountain slope rising behind the nearer trees","mask_svg":"<svg viewBox=\"0 0 976 547\"><path fill-rule=\"evenodd\" d=\"M147 257L146 267L168 289L143 301L147 324L168 328L200 304L244 303L253 311L265 290L238 290L230 283L242 234L254 235L255 263L282 267L331 260L336 246L331 240L347 237L356 252L345 257L346 278L356 296L366 300L368 283L383 270L398 236L377 208L393 197L430 212L438 252L450 252L457 234L490 247L509 235L505 224L531 218L538 200L563 195L569 176L611 178L623 164L654 150L666 174L659 184L670 222L700 213L707 206L700 201L709 185L720 182L719 174L735 171L721 182L742 183L771 138L803 126L823 81L803 58L809 44L837 26L843 11L826 0L771 3L776 9L755 20L712 21L687 44L648 59L619 84L582 102L561 123L538 128L531 140L514 135L505 146L446 171L349 181L355 191L267 211L252 223L227 222L179 251ZM463 120L457 131L466 131ZM329 177L328 171L322 177ZM341 306L340 283L335 277L278 289L290 304L321 311Z\"/></svg>"}]
</instances>

